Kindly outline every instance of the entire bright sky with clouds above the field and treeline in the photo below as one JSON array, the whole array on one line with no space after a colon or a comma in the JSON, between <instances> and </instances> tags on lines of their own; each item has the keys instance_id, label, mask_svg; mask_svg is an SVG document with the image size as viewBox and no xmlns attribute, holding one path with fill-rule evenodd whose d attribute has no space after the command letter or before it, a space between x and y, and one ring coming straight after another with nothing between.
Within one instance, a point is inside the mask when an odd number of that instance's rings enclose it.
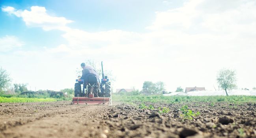
<instances>
[{"instance_id":1,"label":"entire bright sky with clouds above the field and treeline","mask_svg":"<svg viewBox=\"0 0 256 138\"><path fill-rule=\"evenodd\" d=\"M86 60L103 61L114 89L214 90L223 68L252 89L255 13L255 0L0 0L0 67L31 90L73 88Z\"/></svg>"}]
</instances>

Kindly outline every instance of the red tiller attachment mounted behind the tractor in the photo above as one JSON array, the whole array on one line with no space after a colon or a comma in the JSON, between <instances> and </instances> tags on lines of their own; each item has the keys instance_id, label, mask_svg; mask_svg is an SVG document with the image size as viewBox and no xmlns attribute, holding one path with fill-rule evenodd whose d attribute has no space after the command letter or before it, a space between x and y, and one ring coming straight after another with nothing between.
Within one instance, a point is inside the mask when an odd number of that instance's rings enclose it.
<instances>
[{"instance_id":1,"label":"red tiller attachment mounted behind the tractor","mask_svg":"<svg viewBox=\"0 0 256 138\"><path fill-rule=\"evenodd\" d=\"M93 95L89 94L89 97L73 97L73 104L110 105L111 99L110 97L93 97Z\"/></svg>"}]
</instances>

